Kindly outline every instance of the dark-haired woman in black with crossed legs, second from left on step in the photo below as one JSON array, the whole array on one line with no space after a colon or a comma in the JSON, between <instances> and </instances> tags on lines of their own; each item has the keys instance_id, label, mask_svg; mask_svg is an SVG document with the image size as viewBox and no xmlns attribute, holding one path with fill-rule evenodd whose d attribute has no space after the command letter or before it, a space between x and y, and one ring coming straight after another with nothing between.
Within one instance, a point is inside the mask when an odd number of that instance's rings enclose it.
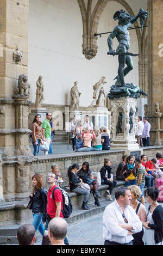
<instances>
[{"instance_id":1,"label":"dark-haired woman in black with crossed legs, second from left on step","mask_svg":"<svg viewBox=\"0 0 163 256\"><path fill-rule=\"evenodd\" d=\"M93 197L95 198L95 205L101 206L99 203L98 198L101 196L98 193L98 181L96 179L93 179L93 175L91 174L91 170L89 167L89 162L84 162L82 168L77 172L77 176L79 176L80 179L86 184L89 184L92 192Z\"/></svg>"}]
</instances>

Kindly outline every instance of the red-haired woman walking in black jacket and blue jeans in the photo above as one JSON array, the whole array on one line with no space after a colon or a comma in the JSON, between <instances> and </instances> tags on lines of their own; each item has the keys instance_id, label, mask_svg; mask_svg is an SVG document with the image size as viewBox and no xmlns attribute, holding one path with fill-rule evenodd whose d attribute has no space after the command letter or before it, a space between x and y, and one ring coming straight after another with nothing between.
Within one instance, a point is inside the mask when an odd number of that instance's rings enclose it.
<instances>
[{"instance_id":1,"label":"red-haired woman walking in black jacket and blue jeans","mask_svg":"<svg viewBox=\"0 0 163 256\"><path fill-rule=\"evenodd\" d=\"M32 225L35 230L39 229L41 235L44 235L43 223L46 221L46 208L47 208L47 191L43 187L42 175L35 174L32 177L32 184L34 187L33 193L30 194L30 199L33 200L32 213L33 222Z\"/></svg>"}]
</instances>

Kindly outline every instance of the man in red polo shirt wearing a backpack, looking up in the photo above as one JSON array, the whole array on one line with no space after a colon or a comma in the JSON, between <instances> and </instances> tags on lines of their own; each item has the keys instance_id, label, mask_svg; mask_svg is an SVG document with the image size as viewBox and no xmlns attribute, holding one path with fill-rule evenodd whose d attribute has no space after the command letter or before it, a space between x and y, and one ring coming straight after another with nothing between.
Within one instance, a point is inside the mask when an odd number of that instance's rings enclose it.
<instances>
[{"instance_id":1,"label":"man in red polo shirt wearing a backpack, looking up","mask_svg":"<svg viewBox=\"0 0 163 256\"><path fill-rule=\"evenodd\" d=\"M60 189L57 189L54 191L54 198L52 197L52 192L55 187L57 187L56 182L58 180L58 176L54 173L48 174L48 184L49 184L49 190L47 194L47 220L45 225L45 230L48 229L48 223L52 220L52 218L55 217L61 217L64 218L62 215L63 205L62 205L62 192ZM65 237L65 245L68 245L68 240Z\"/></svg>"}]
</instances>

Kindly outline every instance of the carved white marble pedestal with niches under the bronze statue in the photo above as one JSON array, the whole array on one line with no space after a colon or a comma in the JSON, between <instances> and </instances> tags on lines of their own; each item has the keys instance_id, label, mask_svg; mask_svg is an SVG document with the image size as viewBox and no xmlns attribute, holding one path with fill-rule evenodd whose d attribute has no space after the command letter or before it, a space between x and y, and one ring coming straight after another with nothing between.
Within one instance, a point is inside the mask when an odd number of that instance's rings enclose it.
<instances>
[{"instance_id":1,"label":"carved white marble pedestal with niches under the bronze statue","mask_svg":"<svg viewBox=\"0 0 163 256\"><path fill-rule=\"evenodd\" d=\"M137 100L133 97L121 97L111 101L111 145L110 149L139 150L139 144L136 143L135 133L137 130L136 112ZM133 110L134 114L130 118L129 113ZM122 112L122 132L117 132L118 115ZM133 122L133 128L130 133L130 121Z\"/></svg>"}]
</instances>

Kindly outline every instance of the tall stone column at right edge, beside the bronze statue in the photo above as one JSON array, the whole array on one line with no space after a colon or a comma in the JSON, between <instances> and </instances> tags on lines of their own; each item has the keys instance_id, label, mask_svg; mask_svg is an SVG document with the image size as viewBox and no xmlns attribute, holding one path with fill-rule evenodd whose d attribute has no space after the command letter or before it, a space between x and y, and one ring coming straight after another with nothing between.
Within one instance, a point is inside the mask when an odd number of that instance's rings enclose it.
<instances>
[{"instance_id":1,"label":"tall stone column at right edge, beside the bronze statue","mask_svg":"<svg viewBox=\"0 0 163 256\"><path fill-rule=\"evenodd\" d=\"M154 108L155 102L158 102L160 112L163 112L163 57L159 54L163 38L162 9L162 0L148 0L148 121L151 123L151 145L162 143L163 136L162 114L155 115Z\"/></svg>"}]
</instances>

